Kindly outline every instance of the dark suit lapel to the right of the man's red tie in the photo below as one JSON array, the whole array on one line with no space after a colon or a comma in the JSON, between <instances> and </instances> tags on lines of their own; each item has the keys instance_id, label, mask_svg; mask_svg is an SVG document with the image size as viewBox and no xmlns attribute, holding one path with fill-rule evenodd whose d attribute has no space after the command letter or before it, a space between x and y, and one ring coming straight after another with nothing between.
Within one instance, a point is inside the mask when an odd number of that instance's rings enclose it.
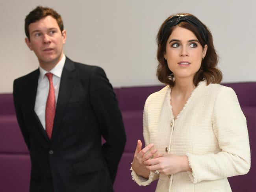
<instances>
[{"instance_id":1,"label":"dark suit lapel to the right of the man's red tie","mask_svg":"<svg viewBox=\"0 0 256 192\"><path fill-rule=\"evenodd\" d=\"M67 104L69 103L69 98L74 85L75 77L76 72L74 68L74 63L68 57L66 57L59 85L59 95L56 105L56 113L51 140L54 139L59 129L63 114L65 113L65 109L67 107Z\"/></svg>"}]
</instances>

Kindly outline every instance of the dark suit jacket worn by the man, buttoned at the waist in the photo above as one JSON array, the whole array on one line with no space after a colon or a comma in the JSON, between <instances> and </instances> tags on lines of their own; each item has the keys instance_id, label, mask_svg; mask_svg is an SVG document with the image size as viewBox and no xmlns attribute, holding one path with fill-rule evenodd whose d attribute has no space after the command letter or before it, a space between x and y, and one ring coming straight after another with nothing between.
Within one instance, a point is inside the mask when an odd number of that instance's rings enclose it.
<instances>
[{"instance_id":1,"label":"dark suit jacket worn by the man, buttoned at the waist","mask_svg":"<svg viewBox=\"0 0 256 192\"><path fill-rule=\"evenodd\" d=\"M17 120L32 163L30 191L113 191L126 136L104 70L66 58L51 140L34 111L38 77L39 69L13 84Z\"/></svg>"}]
</instances>

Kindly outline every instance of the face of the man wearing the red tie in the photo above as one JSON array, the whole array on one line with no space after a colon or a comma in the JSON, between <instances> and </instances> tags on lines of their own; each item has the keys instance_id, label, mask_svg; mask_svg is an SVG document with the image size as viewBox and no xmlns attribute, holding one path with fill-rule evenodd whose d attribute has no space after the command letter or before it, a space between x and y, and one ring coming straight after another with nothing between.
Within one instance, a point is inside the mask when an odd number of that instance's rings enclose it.
<instances>
[{"instance_id":1,"label":"face of the man wearing the red tie","mask_svg":"<svg viewBox=\"0 0 256 192\"><path fill-rule=\"evenodd\" d=\"M63 55L66 31L60 31L52 16L46 16L28 26L30 40L25 39L30 50L35 52L43 68L53 68Z\"/></svg>"}]
</instances>

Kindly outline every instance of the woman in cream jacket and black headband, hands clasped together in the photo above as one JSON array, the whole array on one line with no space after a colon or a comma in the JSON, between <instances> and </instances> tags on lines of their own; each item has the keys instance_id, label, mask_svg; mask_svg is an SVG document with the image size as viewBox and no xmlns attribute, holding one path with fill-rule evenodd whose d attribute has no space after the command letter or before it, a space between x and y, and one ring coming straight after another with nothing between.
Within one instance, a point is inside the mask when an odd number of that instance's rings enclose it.
<instances>
[{"instance_id":1,"label":"woman in cream jacket and black headband, hands clasped together","mask_svg":"<svg viewBox=\"0 0 256 192\"><path fill-rule=\"evenodd\" d=\"M191 14L160 27L158 79L143 113L143 136L132 162L139 185L158 180L156 192L230 192L227 177L250 169L246 119L231 88L219 85L211 32Z\"/></svg>"}]
</instances>

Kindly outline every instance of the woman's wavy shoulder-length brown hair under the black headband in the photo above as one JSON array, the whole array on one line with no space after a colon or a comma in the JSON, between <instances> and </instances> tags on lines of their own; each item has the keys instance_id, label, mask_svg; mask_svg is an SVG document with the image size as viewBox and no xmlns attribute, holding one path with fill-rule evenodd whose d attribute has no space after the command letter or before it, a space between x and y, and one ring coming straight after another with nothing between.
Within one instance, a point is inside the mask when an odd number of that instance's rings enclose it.
<instances>
[{"instance_id":1,"label":"woman's wavy shoulder-length brown hair under the black headband","mask_svg":"<svg viewBox=\"0 0 256 192\"><path fill-rule=\"evenodd\" d=\"M198 41L204 48L204 46L207 44L208 49L206 52L206 55L204 59L202 60L202 64L200 66L200 69L197 71L197 73L194 76L193 83L195 86L198 85L200 81L207 81L207 85L210 83L220 83L222 80L222 73L219 69L217 69L217 63L219 61L218 55L214 49L213 46L213 38L211 35L211 31L194 15L191 15L189 13L178 13L177 15L185 15L189 17L193 17L193 19L196 19L198 24L201 25L204 29L204 32L206 32L207 39L204 40L204 34L202 34L201 30L198 30L198 27L194 24L191 24L191 22L186 22L184 20L180 21L176 26L180 26L182 28L185 28L187 30L192 31L195 36L197 37ZM168 17L163 24L161 25L158 35L157 35L157 44L158 44L158 51L157 51L157 59L158 59L158 67L157 67L157 77L158 80L162 83L165 83L166 85L169 85L170 87L174 86L174 76L173 72L168 68L167 61L164 58L164 54L166 52L166 44L167 40L170 37L171 33L173 32L173 29L175 26L168 28L166 27L167 22L170 22L173 17L177 17L177 15L171 15Z\"/></svg>"}]
</instances>

